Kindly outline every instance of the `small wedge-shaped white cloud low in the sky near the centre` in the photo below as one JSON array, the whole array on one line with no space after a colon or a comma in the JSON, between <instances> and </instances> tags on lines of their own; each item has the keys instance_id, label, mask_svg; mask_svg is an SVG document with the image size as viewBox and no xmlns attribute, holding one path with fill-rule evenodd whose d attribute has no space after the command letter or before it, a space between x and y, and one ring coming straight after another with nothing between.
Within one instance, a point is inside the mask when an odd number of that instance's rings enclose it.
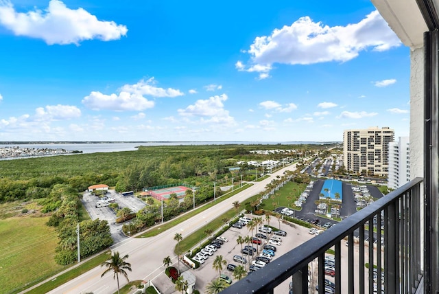
<instances>
[{"instance_id":1,"label":"small wedge-shaped white cloud low in the sky near the centre","mask_svg":"<svg viewBox=\"0 0 439 294\"><path fill-rule=\"evenodd\" d=\"M215 95L207 100L197 100L195 104L186 109L178 109L178 113L187 117L201 117L202 122L218 124L235 124L235 119L224 109L224 101L228 99L226 94Z\"/></svg>"}]
</instances>

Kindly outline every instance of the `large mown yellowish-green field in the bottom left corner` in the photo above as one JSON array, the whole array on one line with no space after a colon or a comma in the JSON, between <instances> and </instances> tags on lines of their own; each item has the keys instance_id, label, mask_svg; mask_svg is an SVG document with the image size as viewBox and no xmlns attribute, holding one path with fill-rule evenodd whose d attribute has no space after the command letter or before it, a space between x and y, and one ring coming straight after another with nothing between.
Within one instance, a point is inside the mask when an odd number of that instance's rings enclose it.
<instances>
[{"instance_id":1,"label":"large mown yellowish-green field in the bottom left corner","mask_svg":"<svg viewBox=\"0 0 439 294\"><path fill-rule=\"evenodd\" d=\"M56 231L48 217L14 217L0 220L1 293L43 280L64 269L54 260Z\"/></svg>"}]
</instances>

